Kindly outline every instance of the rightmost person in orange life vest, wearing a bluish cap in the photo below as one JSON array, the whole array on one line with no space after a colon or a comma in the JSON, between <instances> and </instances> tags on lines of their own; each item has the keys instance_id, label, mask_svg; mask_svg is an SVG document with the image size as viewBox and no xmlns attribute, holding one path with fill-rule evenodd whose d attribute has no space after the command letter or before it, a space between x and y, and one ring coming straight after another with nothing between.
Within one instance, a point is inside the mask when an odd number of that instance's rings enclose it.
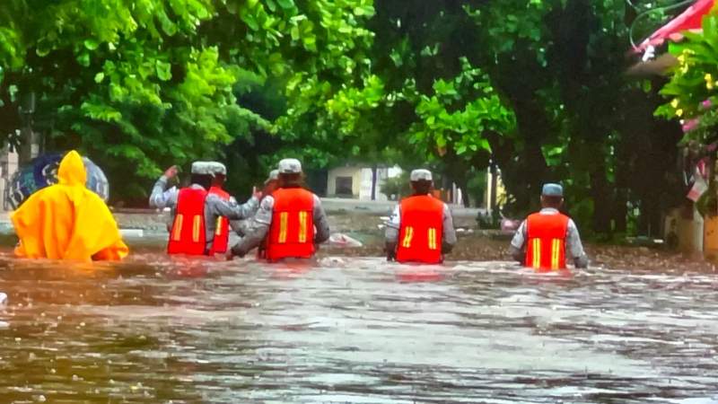
<instances>
[{"instance_id":1,"label":"rightmost person in orange life vest, wearing a bluish cap","mask_svg":"<svg viewBox=\"0 0 718 404\"><path fill-rule=\"evenodd\" d=\"M541 210L529 215L513 235L512 258L540 271L566 268L566 252L576 268L588 267L581 237L574 221L558 209L564 204L564 189L545 184L541 190Z\"/></svg>"}]
</instances>

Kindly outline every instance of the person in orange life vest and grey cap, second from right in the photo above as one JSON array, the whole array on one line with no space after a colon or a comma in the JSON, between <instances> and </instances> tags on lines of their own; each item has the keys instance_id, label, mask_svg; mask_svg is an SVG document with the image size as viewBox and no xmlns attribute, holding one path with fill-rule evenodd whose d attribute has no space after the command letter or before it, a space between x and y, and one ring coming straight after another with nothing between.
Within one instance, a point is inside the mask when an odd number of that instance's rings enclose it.
<instances>
[{"instance_id":1,"label":"person in orange life vest and grey cap, second from right","mask_svg":"<svg viewBox=\"0 0 718 404\"><path fill-rule=\"evenodd\" d=\"M409 180L414 194L401 200L386 223L387 260L438 264L456 244L451 211L430 195L431 171L411 171Z\"/></svg>"}]
</instances>

